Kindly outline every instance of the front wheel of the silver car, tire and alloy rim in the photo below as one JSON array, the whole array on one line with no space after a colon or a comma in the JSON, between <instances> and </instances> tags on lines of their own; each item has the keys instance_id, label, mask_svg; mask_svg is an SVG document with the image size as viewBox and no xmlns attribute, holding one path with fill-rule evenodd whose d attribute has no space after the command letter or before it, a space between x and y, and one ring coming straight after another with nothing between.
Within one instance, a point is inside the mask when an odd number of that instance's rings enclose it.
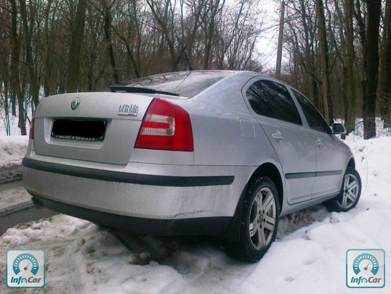
<instances>
[{"instance_id":1,"label":"front wheel of the silver car, tire and alloy rim","mask_svg":"<svg viewBox=\"0 0 391 294\"><path fill-rule=\"evenodd\" d=\"M341 193L325 202L328 211L346 212L356 207L361 195L360 174L352 167L347 167L342 182Z\"/></svg>"}]
</instances>

